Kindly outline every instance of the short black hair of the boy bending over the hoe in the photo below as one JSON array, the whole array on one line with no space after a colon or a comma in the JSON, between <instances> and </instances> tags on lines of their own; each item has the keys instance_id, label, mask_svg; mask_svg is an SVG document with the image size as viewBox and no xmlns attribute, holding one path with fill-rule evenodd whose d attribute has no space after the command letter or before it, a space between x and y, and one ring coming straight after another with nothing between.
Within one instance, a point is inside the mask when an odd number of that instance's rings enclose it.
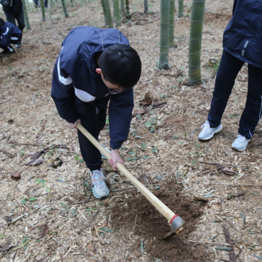
<instances>
[{"instance_id":1,"label":"short black hair of the boy bending over the hoe","mask_svg":"<svg viewBox=\"0 0 262 262\"><path fill-rule=\"evenodd\" d=\"M111 45L99 58L104 79L123 89L133 87L141 76L141 60L129 45Z\"/></svg>"}]
</instances>

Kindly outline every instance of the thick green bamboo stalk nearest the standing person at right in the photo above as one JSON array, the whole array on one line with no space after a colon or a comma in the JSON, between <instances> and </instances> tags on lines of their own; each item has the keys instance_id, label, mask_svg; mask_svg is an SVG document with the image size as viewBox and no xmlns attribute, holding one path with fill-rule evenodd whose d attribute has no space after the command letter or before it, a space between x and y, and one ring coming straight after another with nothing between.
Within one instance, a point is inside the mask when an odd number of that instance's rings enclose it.
<instances>
[{"instance_id":1,"label":"thick green bamboo stalk nearest the standing person at right","mask_svg":"<svg viewBox=\"0 0 262 262\"><path fill-rule=\"evenodd\" d=\"M201 79L201 42L204 21L204 0L193 0L190 45L188 57L188 84L200 84Z\"/></svg>"}]
</instances>

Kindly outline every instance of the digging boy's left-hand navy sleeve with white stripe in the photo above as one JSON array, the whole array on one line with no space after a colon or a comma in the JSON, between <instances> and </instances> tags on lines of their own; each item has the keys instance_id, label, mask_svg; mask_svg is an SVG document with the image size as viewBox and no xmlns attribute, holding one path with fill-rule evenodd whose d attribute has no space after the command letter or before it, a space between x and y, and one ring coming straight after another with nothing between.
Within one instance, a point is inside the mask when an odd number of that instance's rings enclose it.
<instances>
[{"instance_id":1,"label":"digging boy's left-hand navy sleeve with white stripe","mask_svg":"<svg viewBox=\"0 0 262 262\"><path fill-rule=\"evenodd\" d=\"M60 56L55 62L51 97L58 109L58 114L69 123L75 123L78 116L74 109L75 90L72 79L64 70L60 69Z\"/></svg>"}]
</instances>

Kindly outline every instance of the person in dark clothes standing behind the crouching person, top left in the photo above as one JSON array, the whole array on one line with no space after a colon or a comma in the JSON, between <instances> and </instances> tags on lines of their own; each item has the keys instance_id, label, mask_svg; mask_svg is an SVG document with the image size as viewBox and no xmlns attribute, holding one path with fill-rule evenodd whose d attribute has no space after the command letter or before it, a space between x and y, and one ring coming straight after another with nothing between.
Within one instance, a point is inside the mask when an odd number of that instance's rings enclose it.
<instances>
[{"instance_id":1,"label":"person in dark clothes standing behind the crouching person, top left","mask_svg":"<svg viewBox=\"0 0 262 262\"><path fill-rule=\"evenodd\" d=\"M3 5L3 4L2 4ZM25 28L25 20L23 18L23 3L21 0L10 1L9 6L3 5L3 11L6 14L6 20L9 23L13 23L16 26L16 21L18 23L18 29L23 33L23 28ZM22 40L22 38L21 38ZM21 42L17 43L16 48L21 47Z\"/></svg>"}]
</instances>

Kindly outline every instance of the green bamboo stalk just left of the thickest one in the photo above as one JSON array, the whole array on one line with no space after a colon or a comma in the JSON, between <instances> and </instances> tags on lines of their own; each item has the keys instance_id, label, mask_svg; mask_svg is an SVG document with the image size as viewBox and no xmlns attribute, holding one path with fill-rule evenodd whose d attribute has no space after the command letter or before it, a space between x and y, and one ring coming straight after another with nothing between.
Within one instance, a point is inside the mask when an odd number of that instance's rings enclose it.
<instances>
[{"instance_id":1,"label":"green bamboo stalk just left of the thickest one","mask_svg":"<svg viewBox=\"0 0 262 262\"><path fill-rule=\"evenodd\" d=\"M159 68L168 69L170 0L161 0Z\"/></svg>"}]
</instances>

